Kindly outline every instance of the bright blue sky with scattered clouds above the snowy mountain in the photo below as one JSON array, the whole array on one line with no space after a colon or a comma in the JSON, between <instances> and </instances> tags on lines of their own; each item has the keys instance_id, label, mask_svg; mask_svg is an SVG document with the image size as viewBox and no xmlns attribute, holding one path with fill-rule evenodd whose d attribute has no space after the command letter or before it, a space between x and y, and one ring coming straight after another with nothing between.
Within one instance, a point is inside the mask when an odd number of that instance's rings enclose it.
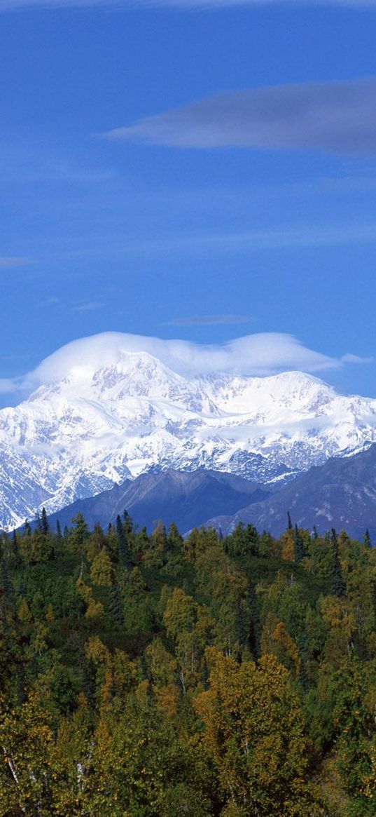
<instances>
[{"instance_id":1,"label":"bright blue sky with scattered clouds above the snowy mountain","mask_svg":"<svg viewBox=\"0 0 376 817\"><path fill-rule=\"evenodd\" d=\"M375 38L376 2L0 0L0 377L107 331L374 357Z\"/></svg>"}]
</instances>

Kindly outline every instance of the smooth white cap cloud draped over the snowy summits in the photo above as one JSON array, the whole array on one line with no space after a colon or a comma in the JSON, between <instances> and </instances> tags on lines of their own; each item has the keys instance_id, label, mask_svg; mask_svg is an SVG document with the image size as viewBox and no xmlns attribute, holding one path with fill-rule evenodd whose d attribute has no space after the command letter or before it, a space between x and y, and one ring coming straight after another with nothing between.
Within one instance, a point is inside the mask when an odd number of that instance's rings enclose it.
<instances>
[{"instance_id":1,"label":"smooth white cap cloud draped over the snowy summits","mask_svg":"<svg viewBox=\"0 0 376 817\"><path fill-rule=\"evenodd\" d=\"M42 384L60 381L79 369L88 377L99 367L116 364L127 352L144 351L185 377L215 372L264 377L281 371L308 373L341 368L361 362L356 355L336 359L307 349L293 335L257 333L223 344L198 344L125 333L102 333L62 346L42 360L32 372L14 380L0 379L0 392L33 391Z\"/></svg>"}]
</instances>

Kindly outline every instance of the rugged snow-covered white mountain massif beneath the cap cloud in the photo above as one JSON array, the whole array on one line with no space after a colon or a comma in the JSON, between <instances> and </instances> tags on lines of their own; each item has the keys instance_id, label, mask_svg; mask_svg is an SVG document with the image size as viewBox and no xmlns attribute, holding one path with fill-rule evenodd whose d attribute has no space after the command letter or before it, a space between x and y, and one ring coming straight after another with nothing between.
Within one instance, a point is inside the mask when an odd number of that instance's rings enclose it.
<instances>
[{"instance_id":1,"label":"rugged snow-covered white mountain massif beneath the cap cloud","mask_svg":"<svg viewBox=\"0 0 376 817\"><path fill-rule=\"evenodd\" d=\"M45 384L0 411L2 525L151 469L204 467L265 484L376 440L376 400L339 395L312 375L183 375L105 337L103 355L93 338L77 342L75 359L51 355Z\"/></svg>"}]
</instances>

